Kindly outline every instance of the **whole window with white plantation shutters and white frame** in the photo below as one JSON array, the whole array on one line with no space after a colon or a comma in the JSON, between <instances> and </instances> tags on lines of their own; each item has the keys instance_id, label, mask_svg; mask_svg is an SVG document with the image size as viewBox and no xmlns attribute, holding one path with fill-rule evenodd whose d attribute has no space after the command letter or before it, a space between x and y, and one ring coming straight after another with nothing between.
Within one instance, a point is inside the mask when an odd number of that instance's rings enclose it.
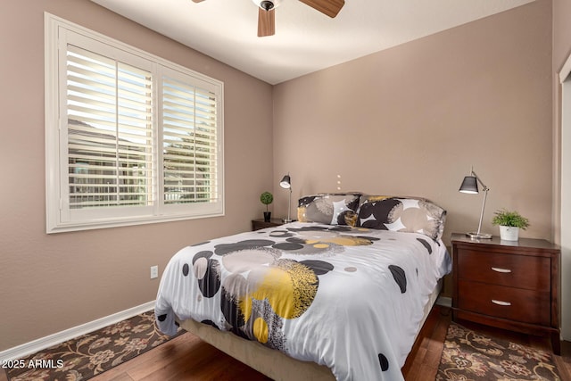
<instances>
[{"instance_id":1,"label":"whole window with white plantation shutters and white frame","mask_svg":"<svg viewBox=\"0 0 571 381\"><path fill-rule=\"evenodd\" d=\"M223 84L46 13L48 233L219 216Z\"/></svg>"}]
</instances>

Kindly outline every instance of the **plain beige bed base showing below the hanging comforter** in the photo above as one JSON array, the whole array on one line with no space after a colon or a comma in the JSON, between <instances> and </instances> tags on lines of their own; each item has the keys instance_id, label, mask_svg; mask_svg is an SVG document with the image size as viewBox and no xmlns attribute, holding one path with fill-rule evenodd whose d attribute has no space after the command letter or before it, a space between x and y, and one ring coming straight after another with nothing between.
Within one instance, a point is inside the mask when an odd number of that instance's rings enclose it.
<instances>
[{"instance_id":1,"label":"plain beige bed base showing below the hanging comforter","mask_svg":"<svg viewBox=\"0 0 571 381\"><path fill-rule=\"evenodd\" d=\"M428 302L426 302L424 316L418 326L417 337L428 313L432 310L434 302L436 302L440 294L442 284L443 279L440 279ZM256 369L274 380L335 380L333 373L325 365L319 365L311 361L295 360L258 342L245 340L230 332L220 331L215 327L198 323L192 319L178 321L178 323L187 332L197 335L204 342L213 345L222 352L226 352L236 360L244 362L252 369Z\"/></svg>"}]
</instances>

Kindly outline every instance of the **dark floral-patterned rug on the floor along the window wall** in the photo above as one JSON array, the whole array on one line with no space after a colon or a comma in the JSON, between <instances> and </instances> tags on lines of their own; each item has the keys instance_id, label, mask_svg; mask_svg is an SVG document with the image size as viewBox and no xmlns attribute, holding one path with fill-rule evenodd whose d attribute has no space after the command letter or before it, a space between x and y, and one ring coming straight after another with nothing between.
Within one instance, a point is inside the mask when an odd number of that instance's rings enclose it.
<instances>
[{"instance_id":1,"label":"dark floral-patterned rug on the floor along the window wall","mask_svg":"<svg viewBox=\"0 0 571 381\"><path fill-rule=\"evenodd\" d=\"M184 332L179 328L177 335ZM162 335L148 311L11 361L6 373L9 381L87 380L174 337Z\"/></svg>"}]
</instances>

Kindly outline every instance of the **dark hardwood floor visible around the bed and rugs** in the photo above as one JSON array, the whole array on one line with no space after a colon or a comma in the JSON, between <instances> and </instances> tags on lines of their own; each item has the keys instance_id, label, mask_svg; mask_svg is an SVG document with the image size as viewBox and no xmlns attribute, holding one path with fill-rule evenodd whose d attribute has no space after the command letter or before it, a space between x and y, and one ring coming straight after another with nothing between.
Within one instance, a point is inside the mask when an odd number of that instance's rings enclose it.
<instances>
[{"instance_id":1,"label":"dark hardwood floor visible around the bed and rugs","mask_svg":"<svg viewBox=\"0 0 571 381\"><path fill-rule=\"evenodd\" d=\"M451 321L450 309L435 306L418 335L418 340L402 368L406 381L434 380L444 337ZM519 335L501 329L462 322L465 327L487 335L550 351L549 339ZM563 381L571 381L571 343L561 346L562 356L554 356ZM151 380L269 380L268 377L234 360L194 335L185 334L133 360L92 378L93 381ZM0 381L7 381L4 370Z\"/></svg>"}]
</instances>

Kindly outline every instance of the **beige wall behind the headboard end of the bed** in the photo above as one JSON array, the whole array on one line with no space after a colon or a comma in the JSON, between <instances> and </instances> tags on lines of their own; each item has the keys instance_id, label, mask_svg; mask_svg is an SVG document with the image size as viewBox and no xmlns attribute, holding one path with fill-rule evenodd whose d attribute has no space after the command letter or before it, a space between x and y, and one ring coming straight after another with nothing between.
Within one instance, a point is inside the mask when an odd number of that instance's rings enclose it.
<instances>
[{"instance_id":1,"label":"beige wall behind the headboard end of the bed","mask_svg":"<svg viewBox=\"0 0 571 381\"><path fill-rule=\"evenodd\" d=\"M522 236L551 236L551 3L541 0L274 88L274 183L294 198L342 190L424 195L445 236L477 228L482 195L458 192L474 165L492 212ZM278 193L280 190L275 189ZM277 212L285 213L285 198Z\"/></svg>"}]
</instances>

